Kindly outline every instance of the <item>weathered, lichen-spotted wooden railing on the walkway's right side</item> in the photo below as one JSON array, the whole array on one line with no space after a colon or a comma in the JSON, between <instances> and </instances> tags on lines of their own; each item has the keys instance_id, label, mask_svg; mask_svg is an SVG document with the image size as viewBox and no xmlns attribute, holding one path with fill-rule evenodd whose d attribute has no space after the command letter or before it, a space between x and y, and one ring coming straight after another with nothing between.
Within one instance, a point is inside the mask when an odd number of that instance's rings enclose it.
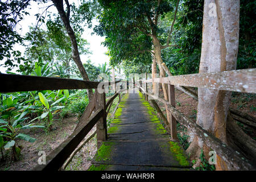
<instances>
[{"instance_id":1,"label":"weathered, lichen-spotted wooden railing on the walkway's right side","mask_svg":"<svg viewBox=\"0 0 256 182\"><path fill-rule=\"evenodd\" d=\"M168 129L170 130L172 139L177 139L176 131L176 121L181 123L181 125L187 127L199 137L204 143L212 150L216 151L217 155L220 156L228 165L229 169L240 169L240 170L255 170L255 168L250 164L248 160L243 158L243 156L234 151L233 148L227 146L220 139L216 138L214 135L210 134L208 131L204 130L203 127L197 125L191 119L186 117L183 113L175 108L175 92L174 86L190 86L197 88L208 88L208 89L218 89L218 90L229 90L236 92L247 92L256 93L256 69L242 69L236 71L225 71L217 73L199 73L192 75L180 75L171 77L162 77L154 79L140 79L133 81L133 84L139 88L139 90L144 93L145 99L150 100L155 106L156 110L160 112L161 118L166 121ZM144 85L142 84L144 82ZM155 96L147 90L148 82L157 82L168 84L168 101ZM147 96L147 97L146 97ZM164 105L168 106L168 111L171 113L170 121L164 117L164 114L160 110L158 104L155 102L158 100Z\"/></svg>"}]
</instances>

